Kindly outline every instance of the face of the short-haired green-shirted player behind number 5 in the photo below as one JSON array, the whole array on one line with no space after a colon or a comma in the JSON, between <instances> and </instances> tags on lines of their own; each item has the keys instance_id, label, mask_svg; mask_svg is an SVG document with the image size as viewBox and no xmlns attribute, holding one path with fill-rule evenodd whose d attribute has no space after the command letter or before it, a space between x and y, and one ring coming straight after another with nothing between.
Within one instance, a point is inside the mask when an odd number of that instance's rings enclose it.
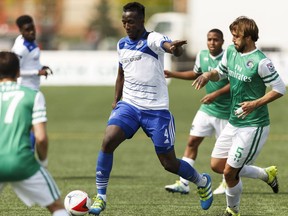
<instances>
[{"instance_id":1,"label":"face of the short-haired green-shirted player behind number 5","mask_svg":"<svg viewBox=\"0 0 288 216\"><path fill-rule=\"evenodd\" d=\"M207 35L207 47L212 56L217 56L222 52L223 38L216 32L209 32Z\"/></svg>"}]
</instances>

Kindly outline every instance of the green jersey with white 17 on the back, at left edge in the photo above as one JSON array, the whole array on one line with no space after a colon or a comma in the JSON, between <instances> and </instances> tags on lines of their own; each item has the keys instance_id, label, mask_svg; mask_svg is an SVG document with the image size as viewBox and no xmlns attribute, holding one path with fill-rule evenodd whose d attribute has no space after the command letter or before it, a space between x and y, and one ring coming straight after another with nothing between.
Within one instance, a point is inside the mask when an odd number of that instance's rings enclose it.
<instances>
[{"instance_id":1,"label":"green jersey with white 17 on the back, at left edge","mask_svg":"<svg viewBox=\"0 0 288 216\"><path fill-rule=\"evenodd\" d=\"M24 180L39 170L30 130L33 124L46 121L41 92L16 82L0 83L0 182Z\"/></svg>"}]
</instances>

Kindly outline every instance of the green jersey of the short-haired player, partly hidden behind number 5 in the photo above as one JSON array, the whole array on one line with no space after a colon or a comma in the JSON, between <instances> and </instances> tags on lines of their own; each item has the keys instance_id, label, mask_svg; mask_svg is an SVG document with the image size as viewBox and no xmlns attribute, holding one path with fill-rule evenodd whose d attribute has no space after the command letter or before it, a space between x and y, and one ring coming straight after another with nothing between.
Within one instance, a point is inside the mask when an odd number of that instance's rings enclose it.
<instances>
[{"instance_id":1,"label":"green jersey of the short-haired player, partly hidden behind number 5","mask_svg":"<svg viewBox=\"0 0 288 216\"><path fill-rule=\"evenodd\" d=\"M223 52L218 56L214 57L209 53L209 50L201 50L196 57L194 71L196 73L203 73L215 69L219 64L219 62L221 61L222 56ZM229 83L228 79L223 79L219 82L209 81L205 86L206 93L210 94L214 91L217 91L223 88L228 83ZM230 93L227 93L220 95L210 104L202 104L200 106L200 110L207 113L210 116L214 116L220 119L229 119L230 106L231 106Z\"/></svg>"}]
</instances>

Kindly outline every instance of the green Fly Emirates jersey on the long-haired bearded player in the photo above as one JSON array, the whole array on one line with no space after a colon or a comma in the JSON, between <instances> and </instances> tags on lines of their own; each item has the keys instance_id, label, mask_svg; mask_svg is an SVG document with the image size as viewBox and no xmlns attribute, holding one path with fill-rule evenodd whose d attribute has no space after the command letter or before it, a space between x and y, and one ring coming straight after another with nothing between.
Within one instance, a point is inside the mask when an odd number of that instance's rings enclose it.
<instances>
[{"instance_id":1,"label":"green Fly Emirates jersey on the long-haired bearded player","mask_svg":"<svg viewBox=\"0 0 288 216\"><path fill-rule=\"evenodd\" d=\"M272 85L280 79L272 62L263 52L255 49L249 53L239 53L234 45L225 51L217 69L220 76L228 76L232 96L229 123L235 127L260 127L270 124L267 105L255 109L244 119L235 115L239 103L253 101L266 93L266 85Z\"/></svg>"}]
</instances>

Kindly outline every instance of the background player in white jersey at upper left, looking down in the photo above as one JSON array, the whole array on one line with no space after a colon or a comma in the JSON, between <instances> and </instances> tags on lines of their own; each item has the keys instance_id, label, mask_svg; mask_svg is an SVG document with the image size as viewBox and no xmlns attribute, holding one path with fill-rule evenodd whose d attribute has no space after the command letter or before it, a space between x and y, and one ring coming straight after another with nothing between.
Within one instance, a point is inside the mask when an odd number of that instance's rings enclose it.
<instances>
[{"instance_id":1,"label":"background player in white jersey at upper left, looking down","mask_svg":"<svg viewBox=\"0 0 288 216\"><path fill-rule=\"evenodd\" d=\"M40 63L40 49L36 43L36 29L31 16L22 15L17 18L16 24L19 35L12 47L20 60L20 77L18 82L34 90L39 90L40 76L52 74L48 66Z\"/></svg>"}]
</instances>

